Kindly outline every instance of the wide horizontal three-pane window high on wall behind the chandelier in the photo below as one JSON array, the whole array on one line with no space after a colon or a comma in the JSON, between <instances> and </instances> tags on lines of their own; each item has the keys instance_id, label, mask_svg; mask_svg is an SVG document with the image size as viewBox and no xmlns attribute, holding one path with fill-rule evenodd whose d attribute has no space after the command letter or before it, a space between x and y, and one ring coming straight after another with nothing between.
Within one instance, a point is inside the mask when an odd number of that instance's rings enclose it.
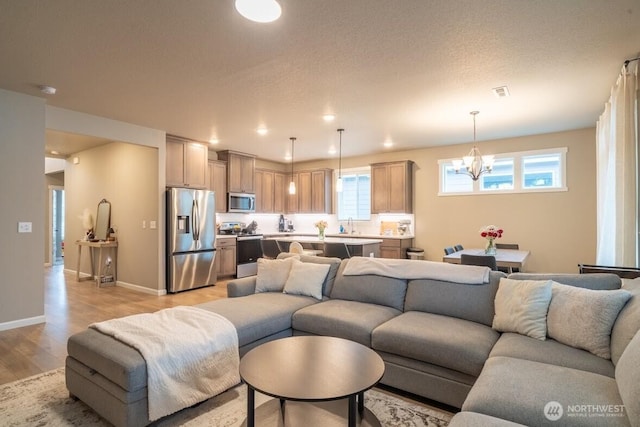
<instances>
[{"instance_id":1,"label":"wide horizontal three-pane window high on wall behind the chandelier","mask_svg":"<svg viewBox=\"0 0 640 427\"><path fill-rule=\"evenodd\" d=\"M566 147L495 155L491 173L473 181L456 174L453 159L438 161L440 195L566 191Z\"/></svg>"}]
</instances>

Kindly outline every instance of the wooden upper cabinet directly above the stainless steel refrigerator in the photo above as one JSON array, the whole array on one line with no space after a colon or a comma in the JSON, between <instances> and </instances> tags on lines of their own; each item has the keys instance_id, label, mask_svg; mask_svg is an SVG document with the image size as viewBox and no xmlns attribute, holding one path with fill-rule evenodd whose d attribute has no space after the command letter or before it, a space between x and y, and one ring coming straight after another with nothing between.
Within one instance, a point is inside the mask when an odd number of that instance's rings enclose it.
<instances>
[{"instance_id":1,"label":"wooden upper cabinet directly above the stainless steel refrigerator","mask_svg":"<svg viewBox=\"0 0 640 427\"><path fill-rule=\"evenodd\" d=\"M167 135L167 186L207 188L208 157L205 144Z\"/></svg>"}]
</instances>

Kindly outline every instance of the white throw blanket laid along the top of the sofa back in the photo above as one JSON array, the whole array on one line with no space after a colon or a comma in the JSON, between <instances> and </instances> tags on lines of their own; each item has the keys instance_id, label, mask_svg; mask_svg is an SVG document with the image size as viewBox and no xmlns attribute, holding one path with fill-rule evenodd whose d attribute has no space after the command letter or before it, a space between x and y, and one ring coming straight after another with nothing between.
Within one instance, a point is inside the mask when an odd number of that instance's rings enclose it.
<instances>
[{"instance_id":1,"label":"white throw blanket laid along the top of the sofa back","mask_svg":"<svg viewBox=\"0 0 640 427\"><path fill-rule=\"evenodd\" d=\"M345 276L375 274L398 279L433 279L445 282L480 285L489 283L489 267L456 265L446 262L414 261L409 259L386 259L353 257L344 268Z\"/></svg>"}]
</instances>

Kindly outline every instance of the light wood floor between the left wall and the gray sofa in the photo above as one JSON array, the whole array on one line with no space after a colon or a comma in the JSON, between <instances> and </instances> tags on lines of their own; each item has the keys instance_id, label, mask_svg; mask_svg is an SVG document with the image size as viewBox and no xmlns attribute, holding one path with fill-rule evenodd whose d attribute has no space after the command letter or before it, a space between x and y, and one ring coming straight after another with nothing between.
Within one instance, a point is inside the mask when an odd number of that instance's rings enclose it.
<instances>
[{"instance_id":1,"label":"light wood floor between the left wall and the gray sofa","mask_svg":"<svg viewBox=\"0 0 640 427\"><path fill-rule=\"evenodd\" d=\"M46 267L46 323L0 332L0 384L64 366L67 339L90 323L176 305L226 298L227 281L178 294L154 296L94 282L76 282L63 266Z\"/></svg>"}]
</instances>

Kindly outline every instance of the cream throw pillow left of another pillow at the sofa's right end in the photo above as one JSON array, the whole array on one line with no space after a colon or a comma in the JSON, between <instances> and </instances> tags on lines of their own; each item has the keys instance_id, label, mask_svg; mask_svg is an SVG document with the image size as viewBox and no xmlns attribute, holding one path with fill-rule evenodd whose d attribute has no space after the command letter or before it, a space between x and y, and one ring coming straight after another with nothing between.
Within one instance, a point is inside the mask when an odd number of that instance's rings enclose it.
<instances>
[{"instance_id":1,"label":"cream throw pillow left of another pillow at the sofa's right end","mask_svg":"<svg viewBox=\"0 0 640 427\"><path fill-rule=\"evenodd\" d=\"M544 341L550 301L551 280L501 278L495 298L493 329Z\"/></svg>"}]
</instances>

